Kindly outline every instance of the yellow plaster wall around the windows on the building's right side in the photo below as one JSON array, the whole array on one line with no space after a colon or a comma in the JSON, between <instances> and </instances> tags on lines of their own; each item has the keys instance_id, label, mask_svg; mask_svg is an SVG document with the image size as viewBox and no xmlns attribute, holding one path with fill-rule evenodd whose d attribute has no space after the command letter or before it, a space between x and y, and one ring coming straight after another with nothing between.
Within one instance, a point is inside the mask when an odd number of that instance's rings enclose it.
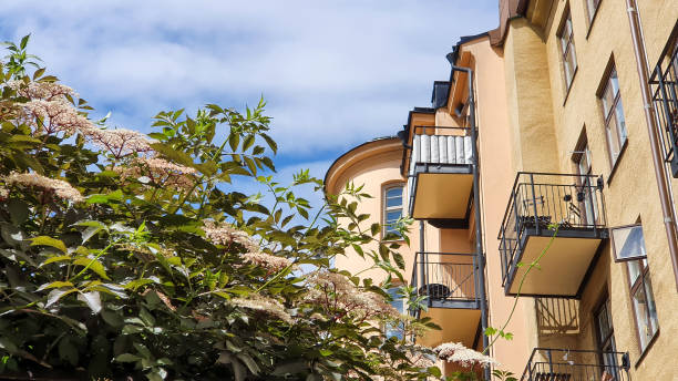
<instances>
[{"instance_id":1,"label":"yellow plaster wall around the windows on the building's right side","mask_svg":"<svg viewBox=\"0 0 678 381\"><path fill-rule=\"evenodd\" d=\"M649 62L654 65L678 19L678 7L675 1L638 2ZM634 364L631 377L636 380L672 380L675 374L678 374L678 363L675 361L678 347L674 342L674 337L678 333L678 315L675 313L678 296L649 156L649 140L626 2L602 1L590 30L584 3L584 1L553 2L543 30L531 27L527 19L511 22L504 54L506 72L512 72L506 79L506 95L512 105L510 110L514 134L511 140L514 144L513 156L523 159L522 166L518 163L516 168L543 171L555 166L557 172L572 173L572 152L583 128L586 128L588 147L593 156L593 173L602 174L607 181L604 196L608 226L633 224L638 218L643 222L660 333L643 361L635 367L640 359L640 351L626 280L626 265L614 262L610 246L606 245L582 296L581 332L576 338L537 334L536 339L540 346L569 347L576 342L581 349L594 348L592 309L607 292L612 301L617 350L630 353ZM569 93L563 81L562 59L556 37L567 6L574 24L578 66ZM613 166L608 159L597 90L613 59L619 78L628 142L610 179ZM534 83L534 89L521 92L521 72L524 70L534 72L537 69L541 78L527 79L527 83ZM551 93L544 81L551 84ZM542 96L536 97L535 92ZM544 100L551 102L546 107ZM521 120L521 115L533 116L534 113L543 114L544 119L541 126L531 130L522 123L525 119ZM551 122L546 117L548 114L552 114ZM544 138L540 137L541 134ZM532 164L527 158L536 163ZM549 164L540 163L544 161L548 161ZM676 185L675 181L674 184Z\"/></svg>"}]
</instances>

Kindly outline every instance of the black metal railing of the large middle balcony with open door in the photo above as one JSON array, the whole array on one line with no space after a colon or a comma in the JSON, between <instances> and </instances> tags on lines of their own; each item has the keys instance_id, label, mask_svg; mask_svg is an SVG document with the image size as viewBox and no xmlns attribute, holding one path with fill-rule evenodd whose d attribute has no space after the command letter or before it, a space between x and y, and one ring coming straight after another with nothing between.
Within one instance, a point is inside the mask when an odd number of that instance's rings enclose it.
<instances>
[{"instance_id":1,"label":"black metal railing of the large middle balcony with open door","mask_svg":"<svg viewBox=\"0 0 678 381\"><path fill-rule=\"evenodd\" d=\"M499 234L504 282L527 235L604 236L603 179L593 175L518 172Z\"/></svg>"}]
</instances>

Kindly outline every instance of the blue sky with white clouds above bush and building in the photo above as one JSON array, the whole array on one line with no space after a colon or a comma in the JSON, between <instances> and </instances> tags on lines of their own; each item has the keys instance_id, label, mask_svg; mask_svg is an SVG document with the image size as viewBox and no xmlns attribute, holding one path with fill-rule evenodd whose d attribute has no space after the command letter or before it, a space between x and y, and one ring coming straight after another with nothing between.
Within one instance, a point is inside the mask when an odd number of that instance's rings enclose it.
<instances>
[{"instance_id":1,"label":"blue sky with white clouds above bush and building","mask_svg":"<svg viewBox=\"0 0 678 381\"><path fill-rule=\"evenodd\" d=\"M429 106L452 45L497 22L497 0L4 0L0 40L31 33L48 72L115 126L264 96L279 176L322 177Z\"/></svg>"}]
</instances>

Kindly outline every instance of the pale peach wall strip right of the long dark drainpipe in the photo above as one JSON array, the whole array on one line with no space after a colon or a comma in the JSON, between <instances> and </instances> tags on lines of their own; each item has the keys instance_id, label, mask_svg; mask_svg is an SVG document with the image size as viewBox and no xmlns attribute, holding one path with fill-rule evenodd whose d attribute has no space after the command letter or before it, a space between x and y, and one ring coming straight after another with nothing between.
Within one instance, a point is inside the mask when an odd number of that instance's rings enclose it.
<instances>
[{"instance_id":1,"label":"pale peach wall strip right of the long dark drainpipe","mask_svg":"<svg viewBox=\"0 0 678 381\"><path fill-rule=\"evenodd\" d=\"M521 82L518 90L538 93L528 86L528 79L514 76L505 78L504 52L490 45L487 38L477 39L462 47L462 52L472 55L474 70L474 89L476 97L476 122L479 127L479 150L481 159L481 210L483 223L483 245L486 257L486 285L490 307L490 326L500 328L508 318L513 307L514 298L506 297L502 287L502 268L499 254L499 241L496 235L502 224L504 209L508 200L508 194L515 178L515 171L524 158L520 150L513 148L513 142L521 146L524 140L516 130L523 127L521 122L531 117L525 113L510 115L505 83ZM507 73L507 71L506 71ZM458 85L462 85L459 83ZM547 87L547 83L546 83ZM533 95L541 96L541 95ZM510 121L513 120L515 124ZM532 126L538 126L533 120ZM514 130L515 128L515 130ZM517 155L516 155L517 153ZM532 351L530 309L532 300L518 301L516 312L507 332L514 333L512 341L500 339L493 346L492 354L502 363L502 369L510 370L516 374L522 373L525 361Z\"/></svg>"}]
</instances>

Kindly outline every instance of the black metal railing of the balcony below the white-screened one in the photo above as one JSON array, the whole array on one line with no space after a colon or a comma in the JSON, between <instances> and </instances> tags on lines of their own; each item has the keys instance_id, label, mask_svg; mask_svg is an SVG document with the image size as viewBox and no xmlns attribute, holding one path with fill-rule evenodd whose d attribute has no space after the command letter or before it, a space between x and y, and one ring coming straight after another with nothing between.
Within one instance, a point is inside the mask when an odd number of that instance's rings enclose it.
<instances>
[{"instance_id":1,"label":"black metal railing of the balcony below the white-screened one","mask_svg":"<svg viewBox=\"0 0 678 381\"><path fill-rule=\"evenodd\" d=\"M477 308L476 274L473 254L415 253L412 286L429 307Z\"/></svg>"}]
</instances>

